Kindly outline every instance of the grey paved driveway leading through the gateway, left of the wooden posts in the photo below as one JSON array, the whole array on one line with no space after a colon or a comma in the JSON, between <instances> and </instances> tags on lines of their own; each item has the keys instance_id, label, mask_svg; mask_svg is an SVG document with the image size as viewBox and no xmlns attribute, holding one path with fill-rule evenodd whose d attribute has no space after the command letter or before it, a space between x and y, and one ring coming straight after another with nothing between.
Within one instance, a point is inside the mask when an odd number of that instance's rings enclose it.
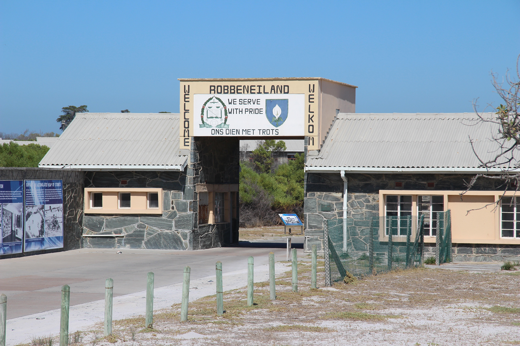
<instances>
[{"instance_id":1,"label":"grey paved driveway leading through the gateway, left of the wooden posts","mask_svg":"<svg viewBox=\"0 0 520 346\"><path fill-rule=\"evenodd\" d=\"M292 237L293 248L303 256L303 237ZM14 319L60 307L61 286L71 288L70 305L105 298L105 280L114 280L114 296L146 289L149 271L155 274L155 287L183 280L183 269L191 267L191 278L215 274L215 262L223 272L247 268L248 257L255 266L286 259L285 238L240 242L236 247L198 251L88 249L0 260L0 293L7 295L7 319ZM121 251L121 254L116 252Z\"/></svg>"}]
</instances>

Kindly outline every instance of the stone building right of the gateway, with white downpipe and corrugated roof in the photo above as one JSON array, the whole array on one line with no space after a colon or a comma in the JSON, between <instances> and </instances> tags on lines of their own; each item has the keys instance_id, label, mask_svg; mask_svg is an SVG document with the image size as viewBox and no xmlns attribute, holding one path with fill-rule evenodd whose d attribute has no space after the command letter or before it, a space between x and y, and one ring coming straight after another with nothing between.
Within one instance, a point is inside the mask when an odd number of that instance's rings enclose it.
<instances>
[{"instance_id":1,"label":"stone building right of the gateway, with white downpipe and corrugated roof","mask_svg":"<svg viewBox=\"0 0 520 346\"><path fill-rule=\"evenodd\" d=\"M479 161L498 152L496 134L496 124L468 113L339 114L319 153L307 156L306 250L321 246L326 220L423 214L425 251L433 253L436 211L450 210L455 261L520 255L515 187L478 178L460 195L475 174L500 171Z\"/></svg>"}]
</instances>

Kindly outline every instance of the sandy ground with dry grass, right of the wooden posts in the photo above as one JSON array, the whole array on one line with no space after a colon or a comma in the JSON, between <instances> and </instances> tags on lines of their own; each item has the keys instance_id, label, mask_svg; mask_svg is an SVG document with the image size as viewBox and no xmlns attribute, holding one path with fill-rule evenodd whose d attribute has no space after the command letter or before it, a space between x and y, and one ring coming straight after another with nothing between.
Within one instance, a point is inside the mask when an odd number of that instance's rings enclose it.
<instances>
[{"instance_id":1,"label":"sandy ground with dry grass, right of the wooden posts","mask_svg":"<svg viewBox=\"0 0 520 346\"><path fill-rule=\"evenodd\" d=\"M322 265L323 262L320 262ZM289 264L279 264L289 266ZM222 316L215 296L190 301L188 322L179 304L144 317L77 334L82 345L507 345L520 344L520 271L472 273L418 268L310 289L310 264L298 263L298 293L290 272L277 279L277 300L267 283L255 284L255 305L245 287L224 294ZM318 268L318 285L323 268ZM74 341L72 338L71 341Z\"/></svg>"}]
</instances>

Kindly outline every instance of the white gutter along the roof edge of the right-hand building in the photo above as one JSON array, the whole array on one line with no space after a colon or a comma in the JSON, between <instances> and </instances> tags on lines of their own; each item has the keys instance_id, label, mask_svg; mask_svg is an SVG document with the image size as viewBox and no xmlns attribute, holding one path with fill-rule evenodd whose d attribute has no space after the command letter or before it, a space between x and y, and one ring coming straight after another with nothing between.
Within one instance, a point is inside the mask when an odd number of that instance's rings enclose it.
<instances>
[{"instance_id":1,"label":"white gutter along the roof edge of the right-hand building","mask_svg":"<svg viewBox=\"0 0 520 346\"><path fill-rule=\"evenodd\" d=\"M305 172L319 173L501 173L520 172L520 168L510 170L501 168L465 168L465 167L432 167L432 168L399 168L399 167L305 167Z\"/></svg>"}]
</instances>

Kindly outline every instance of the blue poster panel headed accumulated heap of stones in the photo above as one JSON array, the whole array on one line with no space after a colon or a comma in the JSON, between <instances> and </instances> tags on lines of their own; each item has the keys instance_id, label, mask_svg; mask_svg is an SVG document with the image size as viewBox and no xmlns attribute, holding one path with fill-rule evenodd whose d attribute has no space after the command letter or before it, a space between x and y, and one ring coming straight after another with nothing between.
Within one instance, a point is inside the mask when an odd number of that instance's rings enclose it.
<instances>
[{"instance_id":1,"label":"blue poster panel headed accumulated heap of stones","mask_svg":"<svg viewBox=\"0 0 520 346\"><path fill-rule=\"evenodd\" d=\"M26 180L23 251L63 247L63 182Z\"/></svg>"}]
</instances>

